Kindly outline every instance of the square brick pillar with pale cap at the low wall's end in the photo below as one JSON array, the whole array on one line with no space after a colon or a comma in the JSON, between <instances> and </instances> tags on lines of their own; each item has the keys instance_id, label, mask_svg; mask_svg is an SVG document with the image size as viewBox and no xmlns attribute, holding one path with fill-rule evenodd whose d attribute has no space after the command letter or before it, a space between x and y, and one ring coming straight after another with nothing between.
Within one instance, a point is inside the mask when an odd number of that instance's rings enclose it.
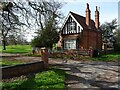
<instances>
[{"instance_id":1,"label":"square brick pillar with pale cap at the low wall's end","mask_svg":"<svg viewBox=\"0 0 120 90\"><path fill-rule=\"evenodd\" d=\"M48 49L41 48L41 59L44 62L44 67L48 68Z\"/></svg>"}]
</instances>

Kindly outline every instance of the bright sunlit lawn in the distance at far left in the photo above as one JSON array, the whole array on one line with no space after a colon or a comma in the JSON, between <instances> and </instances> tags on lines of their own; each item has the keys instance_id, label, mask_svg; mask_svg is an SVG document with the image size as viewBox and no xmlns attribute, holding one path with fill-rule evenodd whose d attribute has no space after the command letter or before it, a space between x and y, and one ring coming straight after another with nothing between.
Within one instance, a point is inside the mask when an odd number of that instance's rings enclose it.
<instances>
[{"instance_id":1,"label":"bright sunlit lawn in the distance at far left","mask_svg":"<svg viewBox=\"0 0 120 90\"><path fill-rule=\"evenodd\" d=\"M3 53L28 53L31 52L32 47L30 45L10 45L6 46L6 50L0 46L0 52Z\"/></svg>"}]
</instances>

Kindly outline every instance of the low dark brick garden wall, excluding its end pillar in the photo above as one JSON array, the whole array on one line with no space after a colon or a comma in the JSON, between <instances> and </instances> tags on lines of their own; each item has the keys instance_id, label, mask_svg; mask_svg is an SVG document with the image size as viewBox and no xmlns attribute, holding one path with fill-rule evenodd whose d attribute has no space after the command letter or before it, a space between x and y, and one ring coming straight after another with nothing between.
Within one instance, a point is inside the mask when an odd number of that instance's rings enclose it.
<instances>
[{"instance_id":1,"label":"low dark brick garden wall, excluding its end pillar","mask_svg":"<svg viewBox=\"0 0 120 90\"><path fill-rule=\"evenodd\" d=\"M34 62L15 66L2 67L2 79L17 77L44 70L44 62Z\"/></svg>"}]
</instances>

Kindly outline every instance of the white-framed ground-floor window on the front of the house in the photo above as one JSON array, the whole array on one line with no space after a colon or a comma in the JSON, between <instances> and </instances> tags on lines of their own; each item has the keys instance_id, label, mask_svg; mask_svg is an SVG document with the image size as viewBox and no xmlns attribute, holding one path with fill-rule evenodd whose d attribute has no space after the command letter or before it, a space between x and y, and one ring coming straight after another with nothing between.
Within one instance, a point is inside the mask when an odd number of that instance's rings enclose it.
<instances>
[{"instance_id":1,"label":"white-framed ground-floor window on the front of the house","mask_svg":"<svg viewBox=\"0 0 120 90\"><path fill-rule=\"evenodd\" d=\"M76 39L64 40L64 49L76 49Z\"/></svg>"}]
</instances>

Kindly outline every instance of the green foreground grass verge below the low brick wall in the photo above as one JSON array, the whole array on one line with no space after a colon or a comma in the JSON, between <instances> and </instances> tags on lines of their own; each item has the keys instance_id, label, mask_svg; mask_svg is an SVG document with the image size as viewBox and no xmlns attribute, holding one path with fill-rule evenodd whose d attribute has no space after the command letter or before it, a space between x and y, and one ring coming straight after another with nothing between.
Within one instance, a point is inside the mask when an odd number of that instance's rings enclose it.
<instances>
[{"instance_id":1,"label":"green foreground grass verge below the low brick wall","mask_svg":"<svg viewBox=\"0 0 120 90\"><path fill-rule=\"evenodd\" d=\"M65 88L65 74L63 70L52 68L42 73L29 76L26 80L3 82L2 86L5 90L62 89Z\"/></svg>"}]
</instances>

